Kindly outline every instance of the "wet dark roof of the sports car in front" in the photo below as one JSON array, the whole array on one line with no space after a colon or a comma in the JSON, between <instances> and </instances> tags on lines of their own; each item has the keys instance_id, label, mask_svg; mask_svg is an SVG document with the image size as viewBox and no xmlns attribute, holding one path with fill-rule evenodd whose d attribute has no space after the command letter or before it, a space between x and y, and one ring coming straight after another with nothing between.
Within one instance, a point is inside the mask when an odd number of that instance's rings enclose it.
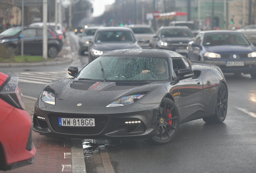
<instances>
[{"instance_id":1,"label":"wet dark roof of the sports car in front","mask_svg":"<svg viewBox=\"0 0 256 173\"><path fill-rule=\"evenodd\" d=\"M164 49L120 49L104 53L102 56L140 56L140 57L183 57L181 54Z\"/></svg>"}]
</instances>

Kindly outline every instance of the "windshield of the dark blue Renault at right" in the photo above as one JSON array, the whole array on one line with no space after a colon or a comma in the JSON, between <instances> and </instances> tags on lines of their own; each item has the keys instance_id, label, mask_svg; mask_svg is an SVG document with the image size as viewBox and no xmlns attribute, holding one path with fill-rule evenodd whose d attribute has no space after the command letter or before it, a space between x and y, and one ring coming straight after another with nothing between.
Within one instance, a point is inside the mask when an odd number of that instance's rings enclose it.
<instances>
[{"instance_id":1,"label":"windshield of the dark blue Renault at right","mask_svg":"<svg viewBox=\"0 0 256 173\"><path fill-rule=\"evenodd\" d=\"M241 33L211 33L205 34L203 45L250 45L250 42Z\"/></svg>"}]
</instances>

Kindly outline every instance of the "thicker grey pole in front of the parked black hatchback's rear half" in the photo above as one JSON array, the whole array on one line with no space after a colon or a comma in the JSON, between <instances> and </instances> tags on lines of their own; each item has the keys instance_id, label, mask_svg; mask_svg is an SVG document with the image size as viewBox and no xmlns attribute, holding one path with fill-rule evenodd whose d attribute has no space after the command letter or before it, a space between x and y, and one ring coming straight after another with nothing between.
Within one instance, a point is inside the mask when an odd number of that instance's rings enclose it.
<instances>
[{"instance_id":1,"label":"thicker grey pole in front of the parked black hatchback's rear half","mask_svg":"<svg viewBox=\"0 0 256 173\"><path fill-rule=\"evenodd\" d=\"M43 59L47 60L47 0L43 0Z\"/></svg>"}]
</instances>

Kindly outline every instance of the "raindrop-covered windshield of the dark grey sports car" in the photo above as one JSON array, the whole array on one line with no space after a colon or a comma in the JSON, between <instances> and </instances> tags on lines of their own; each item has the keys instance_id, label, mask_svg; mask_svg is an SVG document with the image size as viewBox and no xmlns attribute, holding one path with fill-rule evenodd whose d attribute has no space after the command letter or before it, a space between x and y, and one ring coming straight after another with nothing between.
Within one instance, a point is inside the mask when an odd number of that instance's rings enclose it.
<instances>
[{"instance_id":1,"label":"raindrop-covered windshield of the dark grey sports car","mask_svg":"<svg viewBox=\"0 0 256 173\"><path fill-rule=\"evenodd\" d=\"M103 80L104 75L108 82L168 80L169 68L166 58L99 56L85 66L75 80Z\"/></svg>"}]
</instances>

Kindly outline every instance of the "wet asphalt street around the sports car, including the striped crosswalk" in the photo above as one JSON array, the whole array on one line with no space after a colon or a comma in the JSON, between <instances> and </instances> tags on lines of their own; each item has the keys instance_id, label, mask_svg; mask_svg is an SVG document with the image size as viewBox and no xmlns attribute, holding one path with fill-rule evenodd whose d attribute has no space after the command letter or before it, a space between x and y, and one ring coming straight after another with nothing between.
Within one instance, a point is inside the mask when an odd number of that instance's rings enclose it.
<instances>
[{"instance_id":1,"label":"wet asphalt street around the sports car, including the striped crosswalk","mask_svg":"<svg viewBox=\"0 0 256 173\"><path fill-rule=\"evenodd\" d=\"M37 98L48 80L71 77L68 66L81 69L88 63L86 54L78 54L78 36L70 32L69 38L71 49L66 56L73 59L71 64L5 68L23 75L26 82L19 82L23 95ZM184 123L165 145L85 139L87 173L255 173L256 80L243 74L225 74L225 78L229 96L224 123L206 124L202 119ZM104 170L104 164L109 169Z\"/></svg>"}]
</instances>

